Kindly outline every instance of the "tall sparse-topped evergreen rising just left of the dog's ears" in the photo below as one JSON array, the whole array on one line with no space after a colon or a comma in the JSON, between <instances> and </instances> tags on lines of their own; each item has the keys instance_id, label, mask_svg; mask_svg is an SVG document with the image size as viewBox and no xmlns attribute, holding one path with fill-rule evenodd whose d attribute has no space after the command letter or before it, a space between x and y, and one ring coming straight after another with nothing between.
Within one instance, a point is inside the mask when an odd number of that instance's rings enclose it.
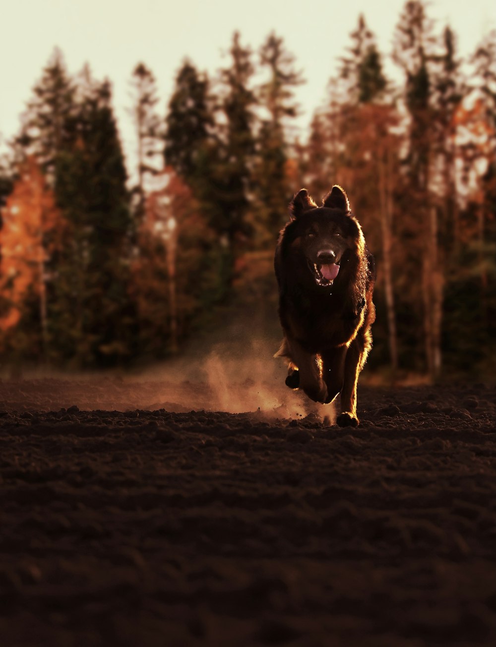
<instances>
[{"instance_id":1,"label":"tall sparse-topped evergreen rising just left of the dog's ears","mask_svg":"<svg viewBox=\"0 0 496 647\"><path fill-rule=\"evenodd\" d=\"M267 81L260 85L259 103L267 118L262 120L258 133L258 164L254 170L257 186L258 223L262 239L273 241L287 220L287 204L294 187L287 186L287 121L297 116L293 89L303 83L295 70L295 59L284 48L284 41L269 34L260 48L260 64Z\"/></svg>"}]
</instances>

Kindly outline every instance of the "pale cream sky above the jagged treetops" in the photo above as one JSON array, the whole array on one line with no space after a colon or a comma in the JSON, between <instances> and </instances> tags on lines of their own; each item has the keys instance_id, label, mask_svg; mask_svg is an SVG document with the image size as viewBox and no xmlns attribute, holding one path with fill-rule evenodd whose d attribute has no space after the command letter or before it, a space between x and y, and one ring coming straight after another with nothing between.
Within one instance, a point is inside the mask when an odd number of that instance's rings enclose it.
<instances>
[{"instance_id":1,"label":"pale cream sky above the jagged treetops","mask_svg":"<svg viewBox=\"0 0 496 647\"><path fill-rule=\"evenodd\" d=\"M130 107L130 78L142 61L159 88L160 110L174 78L188 57L214 76L229 64L227 51L238 30L242 44L258 50L274 30L295 56L307 82L295 93L298 126L308 127L326 96L337 59L350 43L360 13L387 56L404 0L3 0L0 31L0 142L19 129L32 87L54 47L69 73L89 63L96 79L113 83L113 104L128 160L135 149ZM449 23L458 51L469 56L490 28L496 27L494 0L432 0L429 16L440 31ZM385 61L386 70L391 71Z\"/></svg>"}]
</instances>

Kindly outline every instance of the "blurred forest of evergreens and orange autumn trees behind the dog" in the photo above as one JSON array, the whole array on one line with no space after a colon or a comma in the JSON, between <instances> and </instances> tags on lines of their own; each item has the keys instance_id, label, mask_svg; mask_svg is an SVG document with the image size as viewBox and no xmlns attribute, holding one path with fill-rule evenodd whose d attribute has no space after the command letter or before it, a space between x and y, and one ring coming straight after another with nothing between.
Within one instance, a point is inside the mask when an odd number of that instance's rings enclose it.
<instances>
[{"instance_id":1,"label":"blurred forest of evergreens and orange autumn trees behind the dog","mask_svg":"<svg viewBox=\"0 0 496 647\"><path fill-rule=\"evenodd\" d=\"M400 82L358 17L304 137L304 77L275 32L257 49L233 34L212 78L178 61L166 109L138 62L133 168L110 80L54 50L0 160L2 366L136 366L234 307L249 320L265 300L276 320L287 204L340 184L378 264L369 366L496 375L496 32L464 60L409 0L391 38Z\"/></svg>"}]
</instances>

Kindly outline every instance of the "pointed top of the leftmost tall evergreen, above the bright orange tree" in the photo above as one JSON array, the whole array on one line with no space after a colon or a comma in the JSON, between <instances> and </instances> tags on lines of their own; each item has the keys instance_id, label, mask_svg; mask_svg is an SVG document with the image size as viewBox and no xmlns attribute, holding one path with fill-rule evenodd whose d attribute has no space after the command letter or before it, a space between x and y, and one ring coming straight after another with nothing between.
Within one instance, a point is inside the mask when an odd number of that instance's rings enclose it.
<instances>
[{"instance_id":1,"label":"pointed top of the leftmost tall evergreen, above the bright orange tree","mask_svg":"<svg viewBox=\"0 0 496 647\"><path fill-rule=\"evenodd\" d=\"M67 125L74 108L74 86L59 49L54 49L33 92L16 138L17 151L20 157L34 155L54 186L57 158L70 137Z\"/></svg>"}]
</instances>

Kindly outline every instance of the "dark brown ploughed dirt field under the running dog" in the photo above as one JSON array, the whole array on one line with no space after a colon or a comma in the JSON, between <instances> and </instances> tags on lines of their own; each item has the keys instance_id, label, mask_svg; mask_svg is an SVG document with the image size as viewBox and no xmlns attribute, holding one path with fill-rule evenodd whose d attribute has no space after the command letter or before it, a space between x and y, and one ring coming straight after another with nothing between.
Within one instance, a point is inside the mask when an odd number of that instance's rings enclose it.
<instances>
[{"instance_id":1,"label":"dark brown ploughed dirt field under the running dog","mask_svg":"<svg viewBox=\"0 0 496 647\"><path fill-rule=\"evenodd\" d=\"M182 388L0 384L3 646L496 644L492 389L362 387L342 430Z\"/></svg>"}]
</instances>

